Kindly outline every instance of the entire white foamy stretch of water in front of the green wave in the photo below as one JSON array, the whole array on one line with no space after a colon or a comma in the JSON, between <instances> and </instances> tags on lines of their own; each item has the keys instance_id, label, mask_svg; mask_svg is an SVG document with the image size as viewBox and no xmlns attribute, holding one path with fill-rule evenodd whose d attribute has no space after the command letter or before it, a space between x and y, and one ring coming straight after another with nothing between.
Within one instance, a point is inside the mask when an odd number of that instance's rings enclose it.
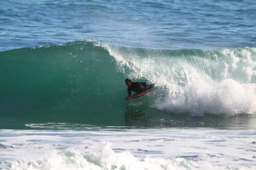
<instances>
[{"instance_id":1,"label":"entire white foamy stretch of water in front of the green wave","mask_svg":"<svg viewBox=\"0 0 256 170\"><path fill-rule=\"evenodd\" d=\"M0 159L1 169L197 170L239 167L253 170L256 167L256 134L252 130L127 129L75 124L27 126L45 129L1 130L0 136L5 140L0 143L4 155ZM69 130L49 130L64 127Z\"/></svg>"}]
</instances>

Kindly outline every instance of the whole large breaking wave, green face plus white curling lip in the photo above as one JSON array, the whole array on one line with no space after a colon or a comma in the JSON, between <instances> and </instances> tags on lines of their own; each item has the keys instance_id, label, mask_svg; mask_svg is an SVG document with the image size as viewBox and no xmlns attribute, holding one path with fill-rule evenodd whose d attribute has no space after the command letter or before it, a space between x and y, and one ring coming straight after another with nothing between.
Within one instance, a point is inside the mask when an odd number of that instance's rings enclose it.
<instances>
[{"instance_id":1,"label":"whole large breaking wave, green face plus white curling lip","mask_svg":"<svg viewBox=\"0 0 256 170\"><path fill-rule=\"evenodd\" d=\"M1 118L11 120L120 125L127 112L256 111L256 48L157 50L73 41L0 52L0 71ZM125 101L125 78L157 88Z\"/></svg>"}]
</instances>

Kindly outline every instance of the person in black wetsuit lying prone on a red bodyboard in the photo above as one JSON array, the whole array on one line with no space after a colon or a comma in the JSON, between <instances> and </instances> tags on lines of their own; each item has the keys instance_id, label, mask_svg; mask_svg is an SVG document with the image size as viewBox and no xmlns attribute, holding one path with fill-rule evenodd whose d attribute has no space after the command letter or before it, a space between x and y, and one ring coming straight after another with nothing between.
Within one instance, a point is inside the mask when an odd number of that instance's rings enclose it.
<instances>
[{"instance_id":1,"label":"person in black wetsuit lying prone on a red bodyboard","mask_svg":"<svg viewBox=\"0 0 256 170\"><path fill-rule=\"evenodd\" d=\"M130 78L125 79L125 84L128 86L128 96L126 99L131 96L131 91L141 93L154 87L154 84L147 85L145 82L132 82Z\"/></svg>"}]
</instances>

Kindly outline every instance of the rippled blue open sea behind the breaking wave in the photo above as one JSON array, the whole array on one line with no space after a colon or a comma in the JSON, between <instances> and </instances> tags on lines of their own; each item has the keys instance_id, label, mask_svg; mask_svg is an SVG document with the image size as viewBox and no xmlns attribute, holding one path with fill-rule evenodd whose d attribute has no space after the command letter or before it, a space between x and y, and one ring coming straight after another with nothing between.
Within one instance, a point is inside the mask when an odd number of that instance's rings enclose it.
<instances>
[{"instance_id":1,"label":"rippled blue open sea behind the breaking wave","mask_svg":"<svg viewBox=\"0 0 256 170\"><path fill-rule=\"evenodd\" d=\"M0 51L95 39L157 49L253 47L252 0L6 0Z\"/></svg>"}]
</instances>

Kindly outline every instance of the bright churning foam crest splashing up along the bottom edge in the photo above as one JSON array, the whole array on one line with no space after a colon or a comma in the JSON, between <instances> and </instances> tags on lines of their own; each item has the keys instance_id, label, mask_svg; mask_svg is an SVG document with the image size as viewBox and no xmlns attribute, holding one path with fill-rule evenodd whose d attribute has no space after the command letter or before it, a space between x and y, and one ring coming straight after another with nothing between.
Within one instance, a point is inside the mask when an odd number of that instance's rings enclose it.
<instances>
[{"instance_id":1,"label":"bright churning foam crest splashing up along the bottom edge","mask_svg":"<svg viewBox=\"0 0 256 170\"><path fill-rule=\"evenodd\" d=\"M128 151L116 153L111 149L110 144L105 144L101 152L86 153L85 150L75 149L61 152L53 150L38 158L15 161L10 167L10 170L187 170L205 166L184 158L135 157Z\"/></svg>"}]
</instances>

